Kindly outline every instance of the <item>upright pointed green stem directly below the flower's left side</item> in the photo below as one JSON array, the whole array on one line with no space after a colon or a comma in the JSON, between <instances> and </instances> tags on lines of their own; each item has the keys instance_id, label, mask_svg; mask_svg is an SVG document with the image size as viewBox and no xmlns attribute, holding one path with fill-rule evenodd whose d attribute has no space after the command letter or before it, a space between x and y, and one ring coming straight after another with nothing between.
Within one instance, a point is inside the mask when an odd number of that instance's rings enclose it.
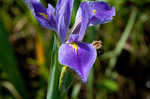
<instances>
[{"instance_id":1,"label":"upright pointed green stem directly below the flower's left side","mask_svg":"<svg viewBox=\"0 0 150 99\"><path fill-rule=\"evenodd\" d=\"M59 66L58 47L57 47L56 35L54 35L47 99L59 99L59 91L58 91L59 67L58 66Z\"/></svg>"}]
</instances>

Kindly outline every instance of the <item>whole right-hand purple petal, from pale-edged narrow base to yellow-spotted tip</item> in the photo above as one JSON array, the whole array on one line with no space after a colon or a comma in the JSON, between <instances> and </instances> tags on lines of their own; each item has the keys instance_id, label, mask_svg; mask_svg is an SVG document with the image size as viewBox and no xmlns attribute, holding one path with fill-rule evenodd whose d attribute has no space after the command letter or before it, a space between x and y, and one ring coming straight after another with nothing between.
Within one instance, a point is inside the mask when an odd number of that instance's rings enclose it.
<instances>
[{"instance_id":1,"label":"whole right-hand purple petal, from pale-edged narrow base to yellow-spotted tip","mask_svg":"<svg viewBox=\"0 0 150 99\"><path fill-rule=\"evenodd\" d=\"M107 23L112 20L113 16L115 16L115 9L105 2L82 2L77 11L75 25L68 41L81 41L88 26Z\"/></svg>"}]
</instances>

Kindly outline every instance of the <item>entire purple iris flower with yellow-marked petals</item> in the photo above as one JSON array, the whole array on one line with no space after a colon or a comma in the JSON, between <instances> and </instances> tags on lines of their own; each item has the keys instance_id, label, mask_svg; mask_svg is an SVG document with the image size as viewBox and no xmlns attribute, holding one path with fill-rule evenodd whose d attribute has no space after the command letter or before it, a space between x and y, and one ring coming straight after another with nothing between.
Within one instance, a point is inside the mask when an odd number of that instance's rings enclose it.
<instances>
[{"instance_id":1,"label":"entire purple iris flower with yellow-marked petals","mask_svg":"<svg viewBox=\"0 0 150 99\"><path fill-rule=\"evenodd\" d=\"M73 2L74 0L58 0L55 10L50 4L46 9L40 0L27 1L37 21L43 27L58 33L61 41L59 62L75 70L83 82L86 82L88 73L96 60L97 52L92 44L84 43L82 39L89 26L112 20L115 16L115 9L105 2L82 2L77 11L72 33L66 40Z\"/></svg>"}]
</instances>

